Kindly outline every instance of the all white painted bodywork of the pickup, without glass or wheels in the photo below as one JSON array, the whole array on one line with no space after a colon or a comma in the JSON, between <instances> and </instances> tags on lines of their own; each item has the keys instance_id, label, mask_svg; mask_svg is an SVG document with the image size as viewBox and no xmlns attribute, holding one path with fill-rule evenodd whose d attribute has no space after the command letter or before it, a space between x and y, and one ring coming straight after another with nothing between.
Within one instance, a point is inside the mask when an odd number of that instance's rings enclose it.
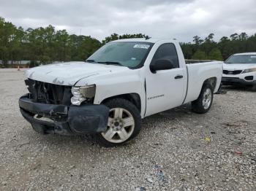
<instances>
[{"instance_id":1,"label":"all white painted bodywork of the pickup, without glass or wheels","mask_svg":"<svg viewBox=\"0 0 256 191\"><path fill-rule=\"evenodd\" d=\"M148 53L144 66L140 69L98 63L69 62L29 69L26 71L26 77L56 85L96 85L94 104L101 104L106 98L116 95L137 93L140 96L142 118L196 100L203 82L211 77L217 79L214 92L219 88L222 62L186 65L178 42L170 39L123 39L118 41L152 42L154 45ZM153 74L149 69L149 64L157 48L165 43L175 44L180 68L157 71L157 74ZM183 78L174 79L178 74Z\"/></svg>"}]
</instances>

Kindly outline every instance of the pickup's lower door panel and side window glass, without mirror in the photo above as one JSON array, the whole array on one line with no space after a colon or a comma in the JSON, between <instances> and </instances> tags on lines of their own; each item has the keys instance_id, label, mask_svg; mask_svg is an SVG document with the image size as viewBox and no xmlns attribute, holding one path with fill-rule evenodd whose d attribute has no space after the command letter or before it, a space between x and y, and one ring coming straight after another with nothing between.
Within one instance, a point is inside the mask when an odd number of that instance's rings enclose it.
<instances>
[{"instance_id":1,"label":"pickup's lower door panel and side window glass, without mirror","mask_svg":"<svg viewBox=\"0 0 256 191\"><path fill-rule=\"evenodd\" d=\"M173 69L150 70L146 74L146 114L145 116L180 106L184 101L186 69L179 66L176 47L173 43L159 46L151 63L169 60Z\"/></svg>"}]
</instances>

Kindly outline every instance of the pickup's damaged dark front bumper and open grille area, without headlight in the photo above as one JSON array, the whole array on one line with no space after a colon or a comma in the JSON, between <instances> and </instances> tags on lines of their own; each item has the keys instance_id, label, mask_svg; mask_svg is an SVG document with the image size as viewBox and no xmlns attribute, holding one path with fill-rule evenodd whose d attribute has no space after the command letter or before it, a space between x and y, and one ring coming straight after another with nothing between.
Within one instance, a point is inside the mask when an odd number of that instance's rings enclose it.
<instances>
[{"instance_id":1,"label":"pickup's damaged dark front bumper and open grille area, without headlight","mask_svg":"<svg viewBox=\"0 0 256 191\"><path fill-rule=\"evenodd\" d=\"M29 93L19 99L20 112L38 133L88 134L104 132L109 109L84 101L71 104L71 86L26 79Z\"/></svg>"}]
</instances>

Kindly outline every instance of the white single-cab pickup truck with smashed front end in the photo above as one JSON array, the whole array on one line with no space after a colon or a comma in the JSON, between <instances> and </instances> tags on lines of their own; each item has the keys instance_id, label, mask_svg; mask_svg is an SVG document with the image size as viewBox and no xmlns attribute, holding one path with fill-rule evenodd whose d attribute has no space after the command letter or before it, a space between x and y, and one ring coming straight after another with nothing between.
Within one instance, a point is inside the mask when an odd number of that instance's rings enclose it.
<instances>
[{"instance_id":1,"label":"white single-cab pickup truck with smashed front end","mask_svg":"<svg viewBox=\"0 0 256 191\"><path fill-rule=\"evenodd\" d=\"M222 79L222 62L186 64L175 40L122 39L85 62L26 71L20 112L39 133L91 134L105 147L140 132L151 114L192 102L206 113Z\"/></svg>"}]
</instances>

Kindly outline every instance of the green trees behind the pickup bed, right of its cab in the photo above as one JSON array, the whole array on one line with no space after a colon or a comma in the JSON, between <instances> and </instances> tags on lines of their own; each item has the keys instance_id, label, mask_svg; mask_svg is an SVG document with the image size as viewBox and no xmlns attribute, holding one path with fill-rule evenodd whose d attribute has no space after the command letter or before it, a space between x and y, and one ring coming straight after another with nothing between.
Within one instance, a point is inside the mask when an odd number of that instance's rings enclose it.
<instances>
[{"instance_id":1,"label":"green trees behind the pickup bed, right of its cab","mask_svg":"<svg viewBox=\"0 0 256 191\"><path fill-rule=\"evenodd\" d=\"M214 34L205 39L194 36L193 43L181 43L181 48L187 59L223 61L235 53L256 52L256 34L235 33L223 36L219 42L214 42Z\"/></svg>"}]
</instances>

